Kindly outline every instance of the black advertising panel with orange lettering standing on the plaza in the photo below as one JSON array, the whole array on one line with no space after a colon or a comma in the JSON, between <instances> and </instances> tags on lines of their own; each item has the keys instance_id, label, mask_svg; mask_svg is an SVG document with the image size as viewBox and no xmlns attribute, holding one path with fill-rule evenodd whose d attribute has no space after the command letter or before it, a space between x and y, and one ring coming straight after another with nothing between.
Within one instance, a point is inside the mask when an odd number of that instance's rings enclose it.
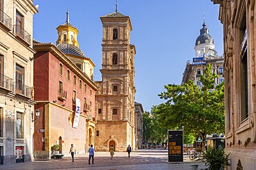
<instances>
[{"instance_id":1,"label":"black advertising panel with orange lettering standing on the plaza","mask_svg":"<svg viewBox=\"0 0 256 170\"><path fill-rule=\"evenodd\" d=\"M183 130L168 130L168 162L183 162Z\"/></svg>"}]
</instances>

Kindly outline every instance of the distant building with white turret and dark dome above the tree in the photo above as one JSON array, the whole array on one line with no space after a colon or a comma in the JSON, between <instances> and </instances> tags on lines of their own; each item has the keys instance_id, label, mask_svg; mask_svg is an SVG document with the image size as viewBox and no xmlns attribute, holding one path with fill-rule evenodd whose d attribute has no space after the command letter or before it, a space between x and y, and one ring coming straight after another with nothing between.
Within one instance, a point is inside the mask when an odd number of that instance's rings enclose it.
<instances>
[{"instance_id":1,"label":"distant building with white turret and dark dome above the tree","mask_svg":"<svg viewBox=\"0 0 256 170\"><path fill-rule=\"evenodd\" d=\"M194 84L201 87L200 76L203 75L206 65L212 65L212 73L215 72L219 77L215 80L215 85L221 83L223 78L223 57L217 56L214 40L210 36L205 22L200 30L200 35L196 39L194 50L196 52L192 61L186 63L183 72L182 83L188 83L188 80L194 81Z\"/></svg>"}]
</instances>

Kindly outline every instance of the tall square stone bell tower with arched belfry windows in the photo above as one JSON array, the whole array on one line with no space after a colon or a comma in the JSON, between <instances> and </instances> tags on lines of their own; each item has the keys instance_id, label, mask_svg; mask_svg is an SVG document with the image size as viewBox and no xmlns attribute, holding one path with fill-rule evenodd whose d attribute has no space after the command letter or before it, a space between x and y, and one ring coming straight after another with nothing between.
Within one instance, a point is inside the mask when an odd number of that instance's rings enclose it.
<instances>
[{"instance_id":1,"label":"tall square stone bell tower with arched belfry windows","mask_svg":"<svg viewBox=\"0 0 256 170\"><path fill-rule=\"evenodd\" d=\"M136 48L130 44L132 30L130 18L116 10L100 17L102 35L102 81L96 82L95 95L97 124L95 150L126 151L127 145L135 147L134 137L134 55Z\"/></svg>"}]
</instances>

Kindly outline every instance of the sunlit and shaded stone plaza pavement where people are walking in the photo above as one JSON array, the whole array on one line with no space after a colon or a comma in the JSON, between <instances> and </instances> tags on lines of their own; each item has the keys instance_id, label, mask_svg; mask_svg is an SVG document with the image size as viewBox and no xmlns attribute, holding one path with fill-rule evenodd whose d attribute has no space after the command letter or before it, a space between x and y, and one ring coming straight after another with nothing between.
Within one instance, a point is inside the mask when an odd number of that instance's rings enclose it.
<instances>
[{"instance_id":1,"label":"sunlit and shaded stone plaza pavement where people are walking","mask_svg":"<svg viewBox=\"0 0 256 170\"><path fill-rule=\"evenodd\" d=\"M192 164L199 164L199 169L205 169L203 162L191 161L184 156L183 163L167 162L167 150L140 149L131 152L128 158L126 152L116 152L113 160L108 152L95 152L95 164L88 164L88 154L75 155L75 161L71 162L71 156L64 156L57 160L35 160L18 164L0 165L0 169L90 169L90 170L137 170L137 169L191 169Z\"/></svg>"}]
</instances>

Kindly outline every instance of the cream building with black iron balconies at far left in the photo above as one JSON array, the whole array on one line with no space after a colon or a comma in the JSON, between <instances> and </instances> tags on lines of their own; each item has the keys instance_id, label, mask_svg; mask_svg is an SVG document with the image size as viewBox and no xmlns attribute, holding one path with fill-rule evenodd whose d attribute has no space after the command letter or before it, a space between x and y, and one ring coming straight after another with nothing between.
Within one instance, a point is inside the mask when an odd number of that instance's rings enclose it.
<instances>
[{"instance_id":1,"label":"cream building with black iron balconies at far left","mask_svg":"<svg viewBox=\"0 0 256 170\"><path fill-rule=\"evenodd\" d=\"M33 14L31 0L0 0L0 164L33 160Z\"/></svg>"}]
</instances>

